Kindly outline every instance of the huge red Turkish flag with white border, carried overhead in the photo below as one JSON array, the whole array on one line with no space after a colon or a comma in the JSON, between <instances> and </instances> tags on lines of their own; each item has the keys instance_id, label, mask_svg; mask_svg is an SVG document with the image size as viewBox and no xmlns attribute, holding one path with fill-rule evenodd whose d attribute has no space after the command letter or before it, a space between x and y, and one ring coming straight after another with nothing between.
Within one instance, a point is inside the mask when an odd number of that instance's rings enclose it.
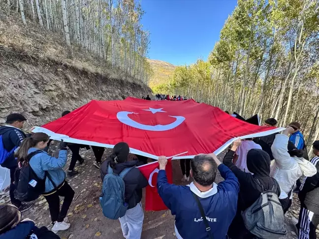
<instances>
[{"instance_id":1,"label":"huge red Turkish flag with white border, carried overhead","mask_svg":"<svg viewBox=\"0 0 319 239\"><path fill-rule=\"evenodd\" d=\"M131 153L154 159L188 151L175 158L180 159L198 153L218 154L237 137L252 138L281 130L238 120L217 107L191 99L172 102L128 97L92 100L33 132L47 133L54 140L106 148L127 142Z\"/></svg>"}]
</instances>

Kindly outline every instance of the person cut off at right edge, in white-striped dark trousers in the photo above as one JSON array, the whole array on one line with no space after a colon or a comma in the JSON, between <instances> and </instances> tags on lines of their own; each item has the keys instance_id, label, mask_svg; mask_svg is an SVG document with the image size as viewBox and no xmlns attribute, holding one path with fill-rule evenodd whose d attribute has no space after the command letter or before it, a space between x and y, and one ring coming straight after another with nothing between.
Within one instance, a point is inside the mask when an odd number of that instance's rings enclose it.
<instances>
[{"instance_id":1,"label":"person cut off at right edge, in white-striped dark trousers","mask_svg":"<svg viewBox=\"0 0 319 239\"><path fill-rule=\"evenodd\" d=\"M317 168L317 174L306 177L300 186L299 221L296 225L299 239L316 239L316 229L319 224L319 140L313 143L313 157L310 162Z\"/></svg>"}]
</instances>

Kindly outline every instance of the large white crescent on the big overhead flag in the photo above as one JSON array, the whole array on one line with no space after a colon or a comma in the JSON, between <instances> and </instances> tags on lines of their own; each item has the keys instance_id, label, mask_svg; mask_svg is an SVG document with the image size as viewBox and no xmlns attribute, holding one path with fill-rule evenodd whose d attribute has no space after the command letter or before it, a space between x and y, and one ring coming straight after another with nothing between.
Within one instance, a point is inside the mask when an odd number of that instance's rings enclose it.
<instances>
[{"instance_id":1,"label":"large white crescent on the big overhead flag","mask_svg":"<svg viewBox=\"0 0 319 239\"><path fill-rule=\"evenodd\" d=\"M120 122L122 122L126 125L129 125L129 126L134 127L134 128L143 129L143 130L150 130L150 131L170 130L170 129L177 127L185 120L185 117L183 117L183 116L169 116L169 117L175 118L176 120L170 124L165 124L165 125L161 125L161 124L147 125L147 124L138 123L138 122L130 119L128 117L129 114L138 114L138 113L128 112L128 111L120 111L117 113L116 117L118 118L118 120L120 120Z\"/></svg>"}]
</instances>

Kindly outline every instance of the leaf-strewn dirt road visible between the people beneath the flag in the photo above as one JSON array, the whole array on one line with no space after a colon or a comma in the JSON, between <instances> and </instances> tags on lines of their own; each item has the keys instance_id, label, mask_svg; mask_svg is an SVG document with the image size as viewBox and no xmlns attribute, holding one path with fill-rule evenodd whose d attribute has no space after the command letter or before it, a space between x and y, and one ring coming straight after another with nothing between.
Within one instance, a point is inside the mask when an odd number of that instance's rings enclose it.
<instances>
[{"instance_id":1,"label":"leaf-strewn dirt road visible between the people beneath the flag","mask_svg":"<svg viewBox=\"0 0 319 239\"><path fill-rule=\"evenodd\" d=\"M108 151L104 153L103 159L106 159ZM71 223L69 230L60 232L62 239L123 239L120 222L118 220L109 220L105 218L99 206L98 197L101 191L101 179L99 170L93 167L94 154L92 150L81 149L80 152L86 162L77 166L76 170L80 173L73 177L67 178L68 183L75 191L74 200L69 209L68 218ZM221 157L223 155L220 155ZM221 159L220 157L220 159ZM70 152L68 156L68 163ZM67 170L68 165L64 168ZM182 173L179 166L179 160L173 161L173 180L176 184L181 184ZM222 177L218 174L217 182ZM145 192L144 192L145 193ZM145 197L142 203L144 205ZM9 202L8 192L0 192L0 202ZM61 202L62 203L62 202ZM287 238L297 238L294 228L295 221L298 218L299 205L294 200L293 206L285 215ZM23 218L31 218L37 226L47 226L51 228L51 218L46 200L41 197L35 201L32 209L23 213ZM142 232L142 239L176 239L174 233L174 217L170 211L146 211Z\"/></svg>"}]
</instances>

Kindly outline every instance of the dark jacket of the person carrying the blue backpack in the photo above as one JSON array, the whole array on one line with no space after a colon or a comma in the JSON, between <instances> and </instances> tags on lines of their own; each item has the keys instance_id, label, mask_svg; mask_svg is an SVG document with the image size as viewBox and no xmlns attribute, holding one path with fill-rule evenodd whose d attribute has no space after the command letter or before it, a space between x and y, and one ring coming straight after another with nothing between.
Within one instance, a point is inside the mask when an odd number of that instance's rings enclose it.
<instances>
[{"instance_id":1,"label":"dark jacket of the person carrying the blue backpack","mask_svg":"<svg viewBox=\"0 0 319 239\"><path fill-rule=\"evenodd\" d=\"M107 174L109 160L104 161L101 165L100 173L103 181ZM120 174L125 168L136 166L137 161L127 161L116 164L113 173ZM128 209L134 208L142 200L142 188L148 185L148 180L142 175L138 168L131 169L124 177L125 182L125 202L128 204Z\"/></svg>"}]
</instances>

